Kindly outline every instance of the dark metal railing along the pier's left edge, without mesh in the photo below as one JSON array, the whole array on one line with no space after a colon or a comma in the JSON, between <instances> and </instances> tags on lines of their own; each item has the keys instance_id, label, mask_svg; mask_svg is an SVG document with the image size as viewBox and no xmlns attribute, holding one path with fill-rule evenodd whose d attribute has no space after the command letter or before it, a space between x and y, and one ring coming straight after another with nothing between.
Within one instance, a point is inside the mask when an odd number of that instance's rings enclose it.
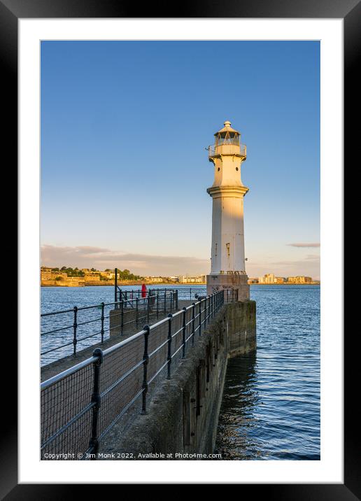
<instances>
[{"instance_id":1,"label":"dark metal railing along the pier's left edge, without mesh","mask_svg":"<svg viewBox=\"0 0 361 501\"><path fill-rule=\"evenodd\" d=\"M117 310L118 322L113 325L110 320L112 309ZM129 334L138 329L139 325L148 323L150 317L158 318L160 313L176 309L178 292L162 290L147 297L41 313L42 362L49 363L67 355L76 355L77 351L92 344L104 343L111 330ZM59 356L51 357L50 353L55 351L59 351Z\"/></svg>"}]
</instances>

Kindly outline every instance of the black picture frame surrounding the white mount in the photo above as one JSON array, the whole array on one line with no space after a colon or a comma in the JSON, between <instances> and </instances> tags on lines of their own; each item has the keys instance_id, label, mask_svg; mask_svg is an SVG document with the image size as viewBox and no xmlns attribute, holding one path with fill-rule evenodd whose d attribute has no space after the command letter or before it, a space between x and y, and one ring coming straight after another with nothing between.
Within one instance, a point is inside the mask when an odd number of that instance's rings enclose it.
<instances>
[{"instance_id":1,"label":"black picture frame surrounding the white mount","mask_svg":"<svg viewBox=\"0 0 361 501\"><path fill-rule=\"evenodd\" d=\"M0 64L3 84L3 106L8 107L6 127L3 129L3 147L10 153L3 174L17 172L17 21L20 18L56 17L140 17L139 5L120 0L0 0ZM141 7L141 17L269 17L269 18L342 18L344 19L344 151L345 165L351 167L351 158L357 159L358 127L353 125L357 116L359 81L356 78L358 55L361 54L359 0L215 0L190 3L148 3ZM3 124L4 125L4 124ZM355 165L353 167L356 167ZM10 181L16 183L15 181ZM335 187L335 196L340 196ZM346 212L346 215L350 213ZM348 218L345 218L345 221ZM22 243L24 244L24 243ZM345 275L347 276L347 274ZM20 281L21 285L21 281ZM342 284L338 284L343 286ZM347 310L352 311L353 305ZM340 308L343 305L340 304ZM347 311L346 310L346 311ZM357 311L353 309L353 311ZM351 313L350 313L351 317ZM349 318L345 312L345 317ZM352 334L352 330L351 330ZM355 336L358 336L355 330ZM358 351L353 336L345 339L345 416L344 416L344 484L241 484L241 495L250 490L252 495L267 495L278 500L355 500L360 499L360 434L359 414L356 408L358 381ZM10 346L9 346L10 345ZM3 348L4 353L4 348ZM15 364L17 346L15 336L6 340L6 358ZM12 354L13 356L9 356ZM2 411L5 420L0 430L0 495L10 500L60 500L84 495L84 485L69 484L17 484L17 381L14 365L11 377L1 383ZM8 369L7 369L8 370ZM4 369L3 369L4 371ZM356 398L355 398L356 393ZM164 479L166 481L166 479ZM235 479L236 483L236 479ZM92 498L99 495L92 485Z\"/></svg>"}]
</instances>

